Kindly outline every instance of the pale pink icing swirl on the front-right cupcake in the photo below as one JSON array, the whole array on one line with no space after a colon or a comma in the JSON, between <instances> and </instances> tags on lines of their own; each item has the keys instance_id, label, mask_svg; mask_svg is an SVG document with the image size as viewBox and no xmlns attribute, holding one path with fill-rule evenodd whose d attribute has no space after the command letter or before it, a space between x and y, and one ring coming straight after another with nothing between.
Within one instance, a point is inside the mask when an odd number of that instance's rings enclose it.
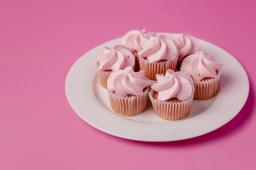
<instances>
[{"instance_id":1,"label":"pale pink icing swirl on the front-right cupcake","mask_svg":"<svg viewBox=\"0 0 256 170\"><path fill-rule=\"evenodd\" d=\"M151 85L158 92L157 99L165 101L172 98L188 99L194 87L193 79L184 71L167 70L166 75L157 74L157 83Z\"/></svg>"}]
</instances>

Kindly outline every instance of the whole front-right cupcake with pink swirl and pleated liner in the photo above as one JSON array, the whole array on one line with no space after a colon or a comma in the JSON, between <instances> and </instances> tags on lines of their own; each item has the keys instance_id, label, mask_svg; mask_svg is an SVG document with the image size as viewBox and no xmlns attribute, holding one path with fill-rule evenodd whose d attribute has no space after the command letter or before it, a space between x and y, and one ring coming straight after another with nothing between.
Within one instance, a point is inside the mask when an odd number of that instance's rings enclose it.
<instances>
[{"instance_id":1,"label":"whole front-right cupcake with pink swirl and pleated liner","mask_svg":"<svg viewBox=\"0 0 256 170\"><path fill-rule=\"evenodd\" d=\"M195 87L189 74L167 70L166 75L157 74L157 83L148 93L154 112L166 120L180 120L189 115Z\"/></svg>"}]
</instances>

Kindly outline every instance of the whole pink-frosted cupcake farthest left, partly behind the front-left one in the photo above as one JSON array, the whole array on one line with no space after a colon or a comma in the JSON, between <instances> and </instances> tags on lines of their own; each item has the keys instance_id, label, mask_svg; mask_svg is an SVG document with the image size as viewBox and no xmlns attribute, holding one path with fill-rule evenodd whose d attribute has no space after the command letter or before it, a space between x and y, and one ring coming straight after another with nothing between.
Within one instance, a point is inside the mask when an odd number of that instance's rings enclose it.
<instances>
[{"instance_id":1,"label":"whole pink-frosted cupcake farthest left, partly behind the front-left one","mask_svg":"<svg viewBox=\"0 0 256 170\"><path fill-rule=\"evenodd\" d=\"M116 45L113 48L105 47L103 53L96 55L95 59L98 65L99 82L105 89L107 89L108 77L113 71L128 66L134 68L135 63L133 54L122 45Z\"/></svg>"}]
</instances>

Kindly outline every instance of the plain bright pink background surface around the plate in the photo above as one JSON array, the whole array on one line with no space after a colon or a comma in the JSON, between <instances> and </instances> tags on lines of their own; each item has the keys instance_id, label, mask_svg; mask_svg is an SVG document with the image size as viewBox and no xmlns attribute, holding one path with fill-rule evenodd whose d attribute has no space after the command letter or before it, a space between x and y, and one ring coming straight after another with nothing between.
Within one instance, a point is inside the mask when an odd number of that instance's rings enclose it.
<instances>
[{"instance_id":1,"label":"plain bright pink background surface around the plate","mask_svg":"<svg viewBox=\"0 0 256 170\"><path fill-rule=\"evenodd\" d=\"M0 169L255 170L255 5L244 0L2 0ZM142 28L190 32L233 54L250 78L242 111L212 133L165 143L120 139L84 122L66 99L70 67L91 48Z\"/></svg>"}]
</instances>

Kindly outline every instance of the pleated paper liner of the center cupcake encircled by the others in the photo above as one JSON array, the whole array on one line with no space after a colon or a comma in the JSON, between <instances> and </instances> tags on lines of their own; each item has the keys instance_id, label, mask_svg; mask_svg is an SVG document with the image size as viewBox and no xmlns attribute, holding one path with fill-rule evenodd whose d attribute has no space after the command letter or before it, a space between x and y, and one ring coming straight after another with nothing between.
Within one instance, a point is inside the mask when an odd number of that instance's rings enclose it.
<instances>
[{"instance_id":1,"label":"pleated paper liner of the center cupcake encircled by the others","mask_svg":"<svg viewBox=\"0 0 256 170\"><path fill-rule=\"evenodd\" d=\"M148 60L144 59L143 57L139 57L140 70L145 70L146 79L151 79L155 81L157 80L156 79L157 74L165 75L168 69L172 69L176 71L177 60L178 58L176 57L174 60L151 63Z\"/></svg>"}]
</instances>

